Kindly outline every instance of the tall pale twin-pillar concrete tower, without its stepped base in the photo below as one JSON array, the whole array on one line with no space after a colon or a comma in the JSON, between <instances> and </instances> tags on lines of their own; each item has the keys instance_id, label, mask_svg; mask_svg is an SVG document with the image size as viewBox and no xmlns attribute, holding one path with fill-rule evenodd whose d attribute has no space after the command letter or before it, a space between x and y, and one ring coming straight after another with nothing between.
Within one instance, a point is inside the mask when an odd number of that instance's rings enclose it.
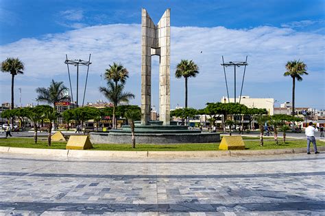
<instances>
[{"instance_id":1,"label":"tall pale twin-pillar concrete tower, without its stepped base","mask_svg":"<svg viewBox=\"0 0 325 216\"><path fill-rule=\"evenodd\" d=\"M170 9L167 9L157 25L147 10L142 9L142 63L141 63L141 124L149 124L152 94L152 55L159 61L159 111L163 125L170 124Z\"/></svg>"}]
</instances>

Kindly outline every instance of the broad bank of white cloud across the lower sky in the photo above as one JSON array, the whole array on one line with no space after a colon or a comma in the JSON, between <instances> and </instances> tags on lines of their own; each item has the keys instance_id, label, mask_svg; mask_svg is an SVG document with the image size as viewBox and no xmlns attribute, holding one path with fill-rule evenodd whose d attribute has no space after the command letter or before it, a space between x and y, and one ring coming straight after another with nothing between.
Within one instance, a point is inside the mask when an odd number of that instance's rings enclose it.
<instances>
[{"instance_id":1,"label":"broad bank of white cloud across the lower sky","mask_svg":"<svg viewBox=\"0 0 325 216\"><path fill-rule=\"evenodd\" d=\"M78 17L74 19L77 20ZM211 98L219 100L226 94L224 72L220 66L221 55L224 55L225 61L228 62L242 61L245 55L248 55L249 66L246 71L244 90L252 94L275 95L278 100L281 97L284 98L283 100L290 100L291 83L282 75L285 72L286 62L293 59L300 59L309 66L310 75L305 77L306 81L302 83L324 81L324 35L321 34L267 26L252 29L172 27L171 36L172 105L183 100L184 81L173 76L180 59L193 59L200 66L200 75L189 81L189 92L195 98L193 107L202 107ZM89 53L92 54L93 64L90 70L91 77L88 85L90 93L86 97L87 101L99 98L97 92L99 74L108 68L108 64L121 62L130 71L127 90L134 92L135 102L140 103L141 26L138 24L84 27L65 33L49 34L43 38L25 38L0 46L1 59L19 57L25 62L25 75L17 76L18 85L19 80L21 82L31 78L42 80L41 83L30 84L36 85L35 88L49 85L53 77L64 79L68 85L67 66L63 63L65 54L68 54L71 59L88 59ZM157 64L158 58L154 58L154 70L158 70ZM239 77L242 72L240 69ZM228 80L232 82L232 70L227 69L227 73ZM153 94L157 91L157 74L158 72L153 71L155 88ZM1 73L0 80L1 91L5 91L3 82L8 82L10 77ZM240 79L238 80L240 82ZM272 90L272 86L277 85L278 82L287 83L286 96L281 96L281 92ZM28 83L23 84L28 85ZM255 85L262 86L263 89L256 92ZM324 91L324 83L320 87ZM202 92L206 94L202 95ZM154 100L158 101L158 93L156 95L154 97L157 99ZM31 98L35 97L35 95L31 96ZM9 100L10 96L2 94L0 99ZM191 100L191 96L189 99ZM324 100L320 100L320 103L324 105Z\"/></svg>"}]
</instances>

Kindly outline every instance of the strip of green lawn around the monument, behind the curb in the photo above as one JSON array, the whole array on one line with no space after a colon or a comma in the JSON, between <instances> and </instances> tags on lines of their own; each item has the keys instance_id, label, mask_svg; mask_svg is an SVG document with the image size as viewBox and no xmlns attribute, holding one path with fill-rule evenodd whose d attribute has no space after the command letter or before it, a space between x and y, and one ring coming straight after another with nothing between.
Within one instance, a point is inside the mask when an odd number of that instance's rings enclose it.
<instances>
[{"instance_id":1,"label":"strip of green lawn around the monument, behind the curb","mask_svg":"<svg viewBox=\"0 0 325 216\"><path fill-rule=\"evenodd\" d=\"M265 150L279 148L306 148L306 140L296 139L289 140L285 144L279 139L276 145L273 140L265 140L264 146L259 145L258 140L245 140L246 149L249 150ZM38 144L34 144L33 138L8 138L0 139L0 146L20 147L20 148L51 148L65 149L67 142L53 141L51 147L47 146L47 139L38 139ZM218 150L219 143L214 144L136 144L136 148L132 149L131 144L93 144L92 150L136 150L136 151L200 151L200 150ZM318 141L317 146L325 146L325 142Z\"/></svg>"}]
</instances>

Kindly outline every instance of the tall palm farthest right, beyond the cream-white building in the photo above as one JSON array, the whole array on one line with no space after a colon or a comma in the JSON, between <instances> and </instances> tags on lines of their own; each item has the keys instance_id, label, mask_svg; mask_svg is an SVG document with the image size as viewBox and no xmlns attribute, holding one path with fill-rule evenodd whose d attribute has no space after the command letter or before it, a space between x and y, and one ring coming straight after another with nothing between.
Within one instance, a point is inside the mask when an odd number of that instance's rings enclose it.
<instances>
[{"instance_id":1,"label":"tall palm farthest right, beyond the cream-white building","mask_svg":"<svg viewBox=\"0 0 325 216\"><path fill-rule=\"evenodd\" d=\"M300 62L299 60L287 62L285 65L287 71L285 72L284 76L290 76L292 78L292 112L291 115L295 116L295 87L296 87L296 79L298 81L302 81L302 75L308 75L306 72L307 66L304 62Z\"/></svg>"}]
</instances>

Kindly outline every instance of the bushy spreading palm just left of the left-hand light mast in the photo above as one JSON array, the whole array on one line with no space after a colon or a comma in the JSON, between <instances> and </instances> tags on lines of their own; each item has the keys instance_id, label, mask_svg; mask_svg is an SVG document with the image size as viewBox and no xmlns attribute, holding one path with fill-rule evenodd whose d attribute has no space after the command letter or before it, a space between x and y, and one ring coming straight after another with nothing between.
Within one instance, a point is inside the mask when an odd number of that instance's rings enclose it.
<instances>
[{"instance_id":1,"label":"bushy spreading palm just left of the left-hand light mast","mask_svg":"<svg viewBox=\"0 0 325 216\"><path fill-rule=\"evenodd\" d=\"M64 94L66 90L68 88L63 85L63 82L56 82L52 79L48 88L36 88L36 92L38 93L36 100L51 104L53 105L53 110L56 110L57 102L69 100L69 96Z\"/></svg>"}]
</instances>

